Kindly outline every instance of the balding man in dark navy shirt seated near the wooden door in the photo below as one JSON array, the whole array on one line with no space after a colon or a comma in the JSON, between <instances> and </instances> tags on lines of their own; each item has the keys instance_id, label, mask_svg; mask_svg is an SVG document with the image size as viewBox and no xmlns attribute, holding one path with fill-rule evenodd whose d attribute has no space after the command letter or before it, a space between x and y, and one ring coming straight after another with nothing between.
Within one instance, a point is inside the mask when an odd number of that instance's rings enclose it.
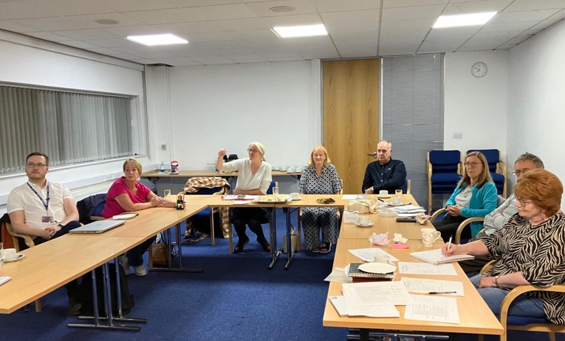
<instances>
[{"instance_id":1,"label":"balding man in dark navy shirt seated near the wooden door","mask_svg":"<svg viewBox=\"0 0 565 341\"><path fill-rule=\"evenodd\" d=\"M402 188L406 180L406 167L400 160L390 158L392 145L383 140L377 145L377 155L379 161L371 162L365 170L363 179L363 192L366 194L379 193L387 190L394 193L395 190Z\"/></svg>"}]
</instances>

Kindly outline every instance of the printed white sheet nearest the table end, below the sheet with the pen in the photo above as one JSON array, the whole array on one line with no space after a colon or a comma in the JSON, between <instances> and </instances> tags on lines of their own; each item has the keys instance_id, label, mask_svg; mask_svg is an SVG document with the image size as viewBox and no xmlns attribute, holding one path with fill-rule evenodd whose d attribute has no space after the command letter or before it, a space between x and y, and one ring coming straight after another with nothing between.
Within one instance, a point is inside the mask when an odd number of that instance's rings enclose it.
<instances>
[{"instance_id":1,"label":"printed white sheet nearest the table end, below the sheet with the pen","mask_svg":"<svg viewBox=\"0 0 565 341\"><path fill-rule=\"evenodd\" d=\"M406 320L459 323L457 299L451 297L411 295L416 305L407 305Z\"/></svg>"}]
</instances>

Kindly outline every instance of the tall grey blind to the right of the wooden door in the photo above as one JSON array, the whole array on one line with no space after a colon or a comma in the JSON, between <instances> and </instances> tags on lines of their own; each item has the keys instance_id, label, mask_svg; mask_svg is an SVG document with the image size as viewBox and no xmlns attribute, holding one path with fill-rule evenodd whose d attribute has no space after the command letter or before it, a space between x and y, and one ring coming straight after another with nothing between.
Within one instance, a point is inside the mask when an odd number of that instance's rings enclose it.
<instances>
[{"instance_id":1,"label":"tall grey blind to the right of the wooden door","mask_svg":"<svg viewBox=\"0 0 565 341\"><path fill-rule=\"evenodd\" d=\"M427 207L427 153L444 148L444 55L383 58L382 102L383 138L405 163L414 199Z\"/></svg>"}]
</instances>

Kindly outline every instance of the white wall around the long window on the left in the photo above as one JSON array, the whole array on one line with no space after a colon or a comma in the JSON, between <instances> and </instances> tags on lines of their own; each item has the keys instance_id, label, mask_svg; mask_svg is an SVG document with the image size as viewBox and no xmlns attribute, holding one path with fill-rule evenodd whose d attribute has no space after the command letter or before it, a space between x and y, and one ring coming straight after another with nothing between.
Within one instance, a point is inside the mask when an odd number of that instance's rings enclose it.
<instances>
[{"instance_id":1,"label":"white wall around the long window on the left","mask_svg":"<svg viewBox=\"0 0 565 341\"><path fill-rule=\"evenodd\" d=\"M111 58L105 56L4 32L0 32L0 51L0 82L138 96L139 115L144 115L144 81L140 65L117 60L112 64ZM149 143L155 150L155 143ZM140 161L151 164L147 158ZM21 160L21 164L24 162ZM115 178L121 172L122 163L107 161L51 168L47 177L65 183L73 190ZM10 190L26 180L25 174L0 176L0 213L5 212L4 204Z\"/></svg>"}]
</instances>

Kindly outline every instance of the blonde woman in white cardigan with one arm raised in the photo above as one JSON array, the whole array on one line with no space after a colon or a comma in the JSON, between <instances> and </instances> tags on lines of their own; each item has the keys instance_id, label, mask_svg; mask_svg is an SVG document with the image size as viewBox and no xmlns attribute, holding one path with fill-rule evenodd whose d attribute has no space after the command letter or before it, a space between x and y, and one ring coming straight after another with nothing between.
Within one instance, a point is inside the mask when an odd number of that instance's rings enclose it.
<instances>
[{"instance_id":1,"label":"blonde woman in white cardigan with one arm raised","mask_svg":"<svg viewBox=\"0 0 565 341\"><path fill-rule=\"evenodd\" d=\"M233 194L264 195L271 185L271 165L265 159L265 147L259 142L251 142L247 153L249 158L233 160L224 164L224 155L227 153L225 148L218 151L218 161L216 169L225 172L238 171L236 188ZM271 246L263 233L261 220L265 215L260 207L233 208L232 223L236 230L238 242L233 249L233 253L244 251L244 247L249 243L249 237L245 234L245 225L257 235L257 242L263 247L263 251L271 252Z\"/></svg>"}]
</instances>

